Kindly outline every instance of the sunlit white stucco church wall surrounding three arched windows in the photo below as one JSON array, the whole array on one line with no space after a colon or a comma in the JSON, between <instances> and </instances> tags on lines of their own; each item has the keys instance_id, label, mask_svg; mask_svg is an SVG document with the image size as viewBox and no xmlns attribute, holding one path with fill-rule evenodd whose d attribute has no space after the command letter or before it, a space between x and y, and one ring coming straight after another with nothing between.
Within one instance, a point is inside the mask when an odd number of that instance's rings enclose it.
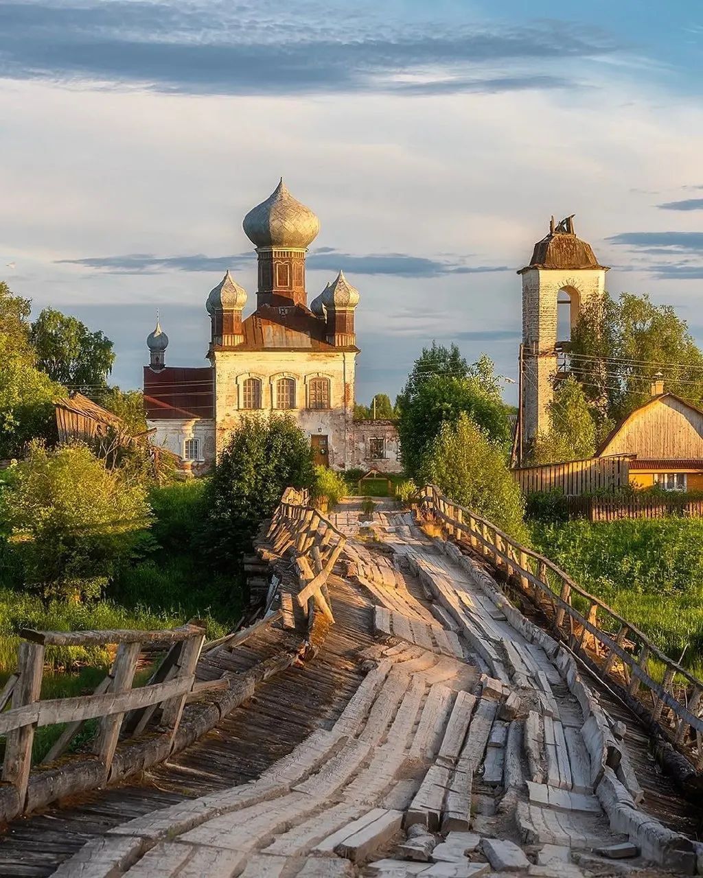
<instances>
[{"instance_id":1,"label":"sunlit white stucco church wall surrounding three arched windows","mask_svg":"<svg viewBox=\"0 0 703 878\"><path fill-rule=\"evenodd\" d=\"M261 414L291 414L308 435L327 435L329 462L335 469L352 466L352 412L356 355L350 352L290 350L215 351L216 446L218 453L243 415L256 410L243 409L243 382L260 378ZM295 407L279 410L275 385L279 378L295 381ZM330 408L308 408L310 378L330 379Z\"/></svg>"}]
</instances>

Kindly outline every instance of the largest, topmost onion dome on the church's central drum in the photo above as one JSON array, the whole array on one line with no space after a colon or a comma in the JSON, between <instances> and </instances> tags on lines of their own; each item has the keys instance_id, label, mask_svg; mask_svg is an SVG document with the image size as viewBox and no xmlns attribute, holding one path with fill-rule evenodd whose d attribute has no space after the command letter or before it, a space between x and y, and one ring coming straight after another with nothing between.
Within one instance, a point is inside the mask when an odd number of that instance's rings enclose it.
<instances>
[{"instance_id":1,"label":"largest, topmost onion dome on the church's central drum","mask_svg":"<svg viewBox=\"0 0 703 878\"><path fill-rule=\"evenodd\" d=\"M305 249L315 241L320 220L286 189L283 177L276 191L244 217L244 234L257 247Z\"/></svg>"}]
</instances>

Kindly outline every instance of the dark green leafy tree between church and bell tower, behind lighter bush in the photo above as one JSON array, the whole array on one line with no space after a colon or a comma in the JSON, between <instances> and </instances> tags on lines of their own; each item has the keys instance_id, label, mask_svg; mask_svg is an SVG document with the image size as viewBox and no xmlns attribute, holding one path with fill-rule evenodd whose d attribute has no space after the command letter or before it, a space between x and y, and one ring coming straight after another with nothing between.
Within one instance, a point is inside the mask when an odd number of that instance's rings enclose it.
<instances>
[{"instance_id":1,"label":"dark green leafy tree between church and bell tower, behind lighter bush","mask_svg":"<svg viewBox=\"0 0 703 878\"><path fill-rule=\"evenodd\" d=\"M436 346L434 349L437 350ZM453 351L458 355L455 346ZM446 362L454 363L454 354L446 354ZM467 366L466 371L460 376L449 372L423 376L417 383L413 383L413 373L410 374L400 404L398 435L403 467L411 479L419 481L424 458L442 425L455 423L461 414L468 414L496 443L510 441L510 423L497 389L493 364L488 357L482 357L479 363Z\"/></svg>"}]
</instances>

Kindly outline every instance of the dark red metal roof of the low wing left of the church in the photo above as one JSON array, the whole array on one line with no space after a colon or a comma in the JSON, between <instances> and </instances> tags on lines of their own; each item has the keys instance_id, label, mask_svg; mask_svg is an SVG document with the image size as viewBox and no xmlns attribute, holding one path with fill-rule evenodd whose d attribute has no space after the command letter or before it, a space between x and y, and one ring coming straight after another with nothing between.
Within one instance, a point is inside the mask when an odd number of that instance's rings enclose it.
<instances>
[{"instance_id":1,"label":"dark red metal roof of the low wing left of the church","mask_svg":"<svg viewBox=\"0 0 703 878\"><path fill-rule=\"evenodd\" d=\"M149 421L214 418L212 367L144 366L144 408Z\"/></svg>"}]
</instances>

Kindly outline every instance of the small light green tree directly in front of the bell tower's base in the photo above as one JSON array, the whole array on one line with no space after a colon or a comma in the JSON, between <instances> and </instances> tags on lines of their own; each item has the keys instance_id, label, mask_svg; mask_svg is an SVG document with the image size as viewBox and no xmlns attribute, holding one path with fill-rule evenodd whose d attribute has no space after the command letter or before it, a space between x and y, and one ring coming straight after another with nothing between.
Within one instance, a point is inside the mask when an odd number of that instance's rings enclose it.
<instances>
[{"instance_id":1,"label":"small light green tree directly in front of the bell tower's base","mask_svg":"<svg viewBox=\"0 0 703 878\"><path fill-rule=\"evenodd\" d=\"M569 376L557 387L549 403L550 428L536 437L535 464L583 460L596 453L596 424L583 387Z\"/></svg>"}]
</instances>

